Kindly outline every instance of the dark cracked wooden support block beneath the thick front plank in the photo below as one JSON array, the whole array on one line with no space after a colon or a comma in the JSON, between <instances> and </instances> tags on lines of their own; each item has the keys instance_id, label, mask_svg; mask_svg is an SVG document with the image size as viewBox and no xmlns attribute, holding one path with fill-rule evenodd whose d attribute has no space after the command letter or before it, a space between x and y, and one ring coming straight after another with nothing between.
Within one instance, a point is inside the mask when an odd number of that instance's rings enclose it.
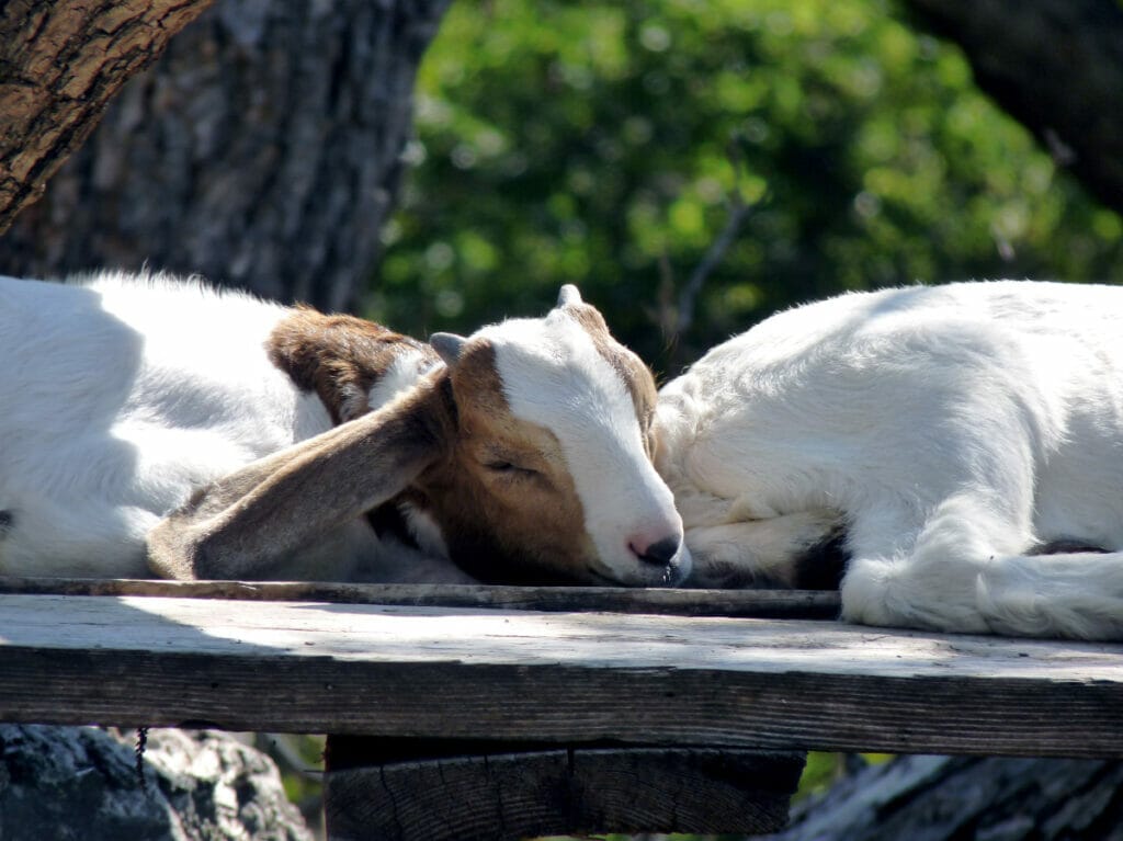
<instances>
[{"instance_id":1,"label":"dark cracked wooden support block beneath the thick front plank","mask_svg":"<svg viewBox=\"0 0 1123 841\"><path fill-rule=\"evenodd\" d=\"M592 832L783 829L803 757L597 749L446 757L329 771L331 841L501 841Z\"/></svg>"}]
</instances>

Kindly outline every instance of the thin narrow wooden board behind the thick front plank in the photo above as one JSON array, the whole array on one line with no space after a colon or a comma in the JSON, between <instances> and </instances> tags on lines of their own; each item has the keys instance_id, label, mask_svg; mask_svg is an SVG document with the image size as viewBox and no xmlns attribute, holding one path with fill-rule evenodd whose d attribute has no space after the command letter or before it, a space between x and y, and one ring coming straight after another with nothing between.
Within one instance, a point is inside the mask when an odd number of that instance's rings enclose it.
<instances>
[{"instance_id":1,"label":"thin narrow wooden board behind the thick front plank","mask_svg":"<svg viewBox=\"0 0 1123 841\"><path fill-rule=\"evenodd\" d=\"M137 578L0 576L0 593L72 596L173 596L268 602L337 602L424 607L667 613L684 616L834 619L839 594L784 589L505 587L463 584L332 584L323 582L179 582Z\"/></svg>"}]
</instances>

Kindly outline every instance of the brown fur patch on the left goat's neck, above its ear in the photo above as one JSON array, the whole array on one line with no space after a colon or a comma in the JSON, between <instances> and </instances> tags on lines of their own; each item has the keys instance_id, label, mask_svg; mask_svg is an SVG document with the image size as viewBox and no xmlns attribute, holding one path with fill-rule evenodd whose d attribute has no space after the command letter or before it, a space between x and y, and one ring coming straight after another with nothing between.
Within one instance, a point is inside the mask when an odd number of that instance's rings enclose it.
<instances>
[{"instance_id":1,"label":"brown fur patch on the left goat's neck, above its ear","mask_svg":"<svg viewBox=\"0 0 1123 841\"><path fill-rule=\"evenodd\" d=\"M432 348L354 316L292 309L270 336L270 359L303 391L314 391L335 423L371 410L371 388L402 345L436 359Z\"/></svg>"}]
</instances>

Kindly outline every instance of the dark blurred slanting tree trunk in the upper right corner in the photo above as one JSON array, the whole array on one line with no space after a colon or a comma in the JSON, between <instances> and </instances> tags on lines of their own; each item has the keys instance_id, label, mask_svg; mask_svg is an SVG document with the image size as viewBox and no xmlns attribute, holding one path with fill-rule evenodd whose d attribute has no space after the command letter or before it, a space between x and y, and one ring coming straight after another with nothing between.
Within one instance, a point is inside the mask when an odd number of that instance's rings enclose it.
<instances>
[{"instance_id":1,"label":"dark blurred slanting tree trunk in the upper right corner","mask_svg":"<svg viewBox=\"0 0 1123 841\"><path fill-rule=\"evenodd\" d=\"M905 0L979 88L1123 212L1123 8L1115 0Z\"/></svg>"}]
</instances>

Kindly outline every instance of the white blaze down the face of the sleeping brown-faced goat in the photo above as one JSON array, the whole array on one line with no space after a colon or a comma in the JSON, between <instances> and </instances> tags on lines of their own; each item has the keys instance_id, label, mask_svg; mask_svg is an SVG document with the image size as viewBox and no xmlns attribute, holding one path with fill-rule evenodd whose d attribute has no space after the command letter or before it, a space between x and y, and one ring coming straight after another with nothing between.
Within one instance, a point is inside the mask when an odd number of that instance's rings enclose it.
<instances>
[{"instance_id":1,"label":"white blaze down the face of the sleeping brown-faced goat","mask_svg":"<svg viewBox=\"0 0 1123 841\"><path fill-rule=\"evenodd\" d=\"M478 333L495 349L511 413L558 439L603 575L627 581L637 533L681 533L670 491L643 449L631 393L588 332L564 312Z\"/></svg>"}]
</instances>

